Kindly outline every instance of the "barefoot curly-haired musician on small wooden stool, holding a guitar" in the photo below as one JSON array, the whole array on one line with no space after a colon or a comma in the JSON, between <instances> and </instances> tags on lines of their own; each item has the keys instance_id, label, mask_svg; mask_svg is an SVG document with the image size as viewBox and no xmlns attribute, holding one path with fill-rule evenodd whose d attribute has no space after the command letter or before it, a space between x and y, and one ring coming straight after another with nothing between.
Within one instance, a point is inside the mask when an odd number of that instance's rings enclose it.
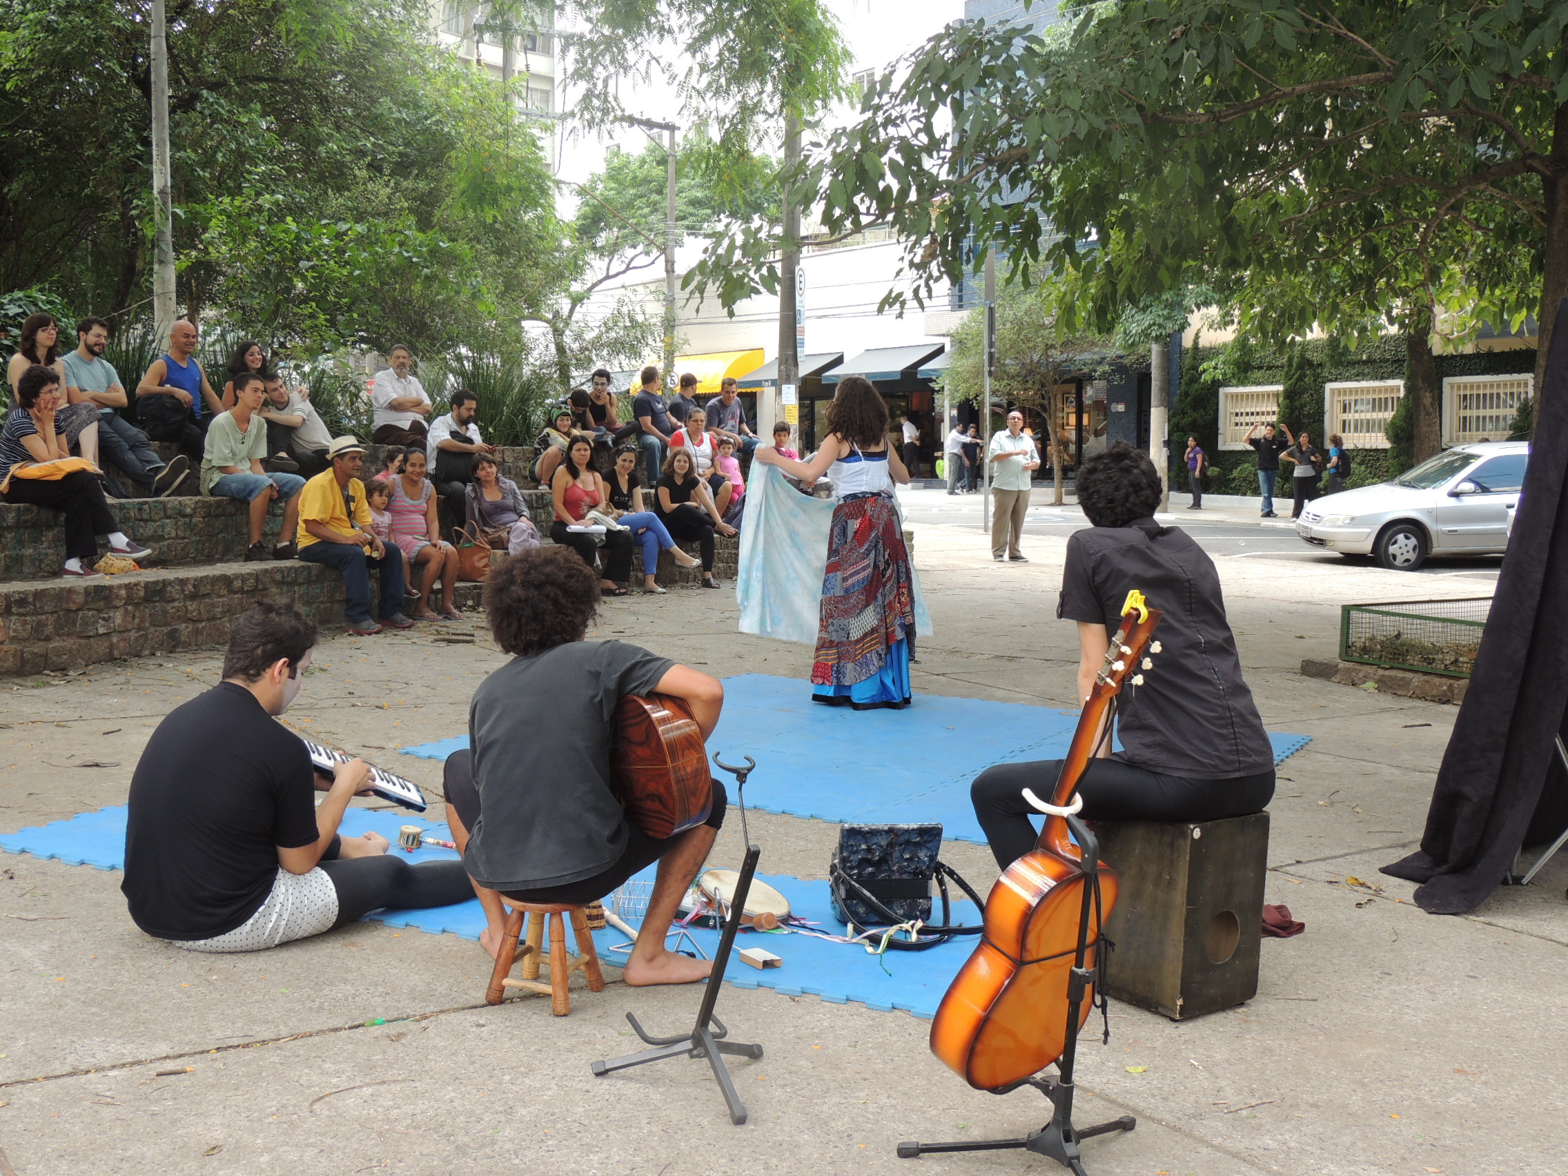
<instances>
[{"instance_id":1,"label":"barefoot curly-haired musician on small wooden stool, holding a guitar","mask_svg":"<svg viewBox=\"0 0 1568 1176\"><path fill-rule=\"evenodd\" d=\"M597 607L597 577L571 547L525 550L491 571L485 616L513 659L474 693L470 751L447 759L447 823L485 906L480 942L491 955L502 942L502 895L590 903L657 861L624 978L690 983L712 961L666 950L665 933L724 823L724 787L713 781L707 823L649 837L610 790L612 721L624 695L673 695L706 739L724 688L627 641L585 641Z\"/></svg>"}]
</instances>

